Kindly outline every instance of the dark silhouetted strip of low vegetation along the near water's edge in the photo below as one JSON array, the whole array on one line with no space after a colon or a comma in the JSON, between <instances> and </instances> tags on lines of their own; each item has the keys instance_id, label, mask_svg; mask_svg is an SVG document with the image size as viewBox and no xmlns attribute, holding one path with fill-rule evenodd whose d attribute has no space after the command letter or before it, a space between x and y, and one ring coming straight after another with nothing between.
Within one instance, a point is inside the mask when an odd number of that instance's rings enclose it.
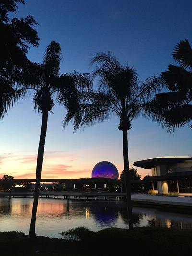
<instances>
[{"instance_id":1,"label":"dark silhouetted strip of low vegetation along the near water's edge","mask_svg":"<svg viewBox=\"0 0 192 256\"><path fill-rule=\"evenodd\" d=\"M0 232L1 255L101 256L185 255L192 251L192 230L142 227L134 230L107 228L98 232L78 227L62 233L64 239L23 232Z\"/></svg>"}]
</instances>

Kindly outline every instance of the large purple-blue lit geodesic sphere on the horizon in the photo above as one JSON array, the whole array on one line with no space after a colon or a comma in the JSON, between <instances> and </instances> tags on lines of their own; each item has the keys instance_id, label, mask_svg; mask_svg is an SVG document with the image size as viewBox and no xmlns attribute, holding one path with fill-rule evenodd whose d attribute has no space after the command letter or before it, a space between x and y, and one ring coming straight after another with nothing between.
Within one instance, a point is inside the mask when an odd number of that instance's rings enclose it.
<instances>
[{"instance_id":1,"label":"large purple-blue lit geodesic sphere on the horizon","mask_svg":"<svg viewBox=\"0 0 192 256\"><path fill-rule=\"evenodd\" d=\"M119 173L114 164L103 161L96 164L91 173L92 178L118 179Z\"/></svg>"}]
</instances>

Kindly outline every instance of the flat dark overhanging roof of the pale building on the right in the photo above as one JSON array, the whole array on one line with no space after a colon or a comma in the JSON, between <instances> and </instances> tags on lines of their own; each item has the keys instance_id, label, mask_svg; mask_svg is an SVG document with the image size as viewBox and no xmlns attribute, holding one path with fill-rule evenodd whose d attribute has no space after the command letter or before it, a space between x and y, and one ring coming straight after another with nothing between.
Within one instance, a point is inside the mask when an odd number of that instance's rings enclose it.
<instances>
[{"instance_id":1,"label":"flat dark overhanging roof of the pale building on the right","mask_svg":"<svg viewBox=\"0 0 192 256\"><path fill-rule=\"evenodd\" d=\"M137 167L142 167L145 169L151 169L152 167L156 167L159 164L174 164L174 163L192 163L192 157L170 156L170 157L149 158L146 160L134 162L133 165Z\"/></svg>"}]
</instances>

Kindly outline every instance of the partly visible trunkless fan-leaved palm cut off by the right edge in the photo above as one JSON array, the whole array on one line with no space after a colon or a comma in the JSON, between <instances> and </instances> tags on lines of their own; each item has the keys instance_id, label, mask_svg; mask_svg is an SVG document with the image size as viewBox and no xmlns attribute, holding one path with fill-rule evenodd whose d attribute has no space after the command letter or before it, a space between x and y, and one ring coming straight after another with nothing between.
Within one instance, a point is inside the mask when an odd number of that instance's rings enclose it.
<instances>
[{"instance_id":1,"label":"partly visible trunkless fan-leaved palm cut off by the right edge","mask_svg":"<svg viewBox=\"0 0 192 256\"><path fill-rule=\"evenodd\" d=\"M173 59L180 66L169 65L168 71L161 73L168 92L157 94L143 109L145 116L160 123L168 132L192 121L192 48L188 40L176 45Z\"/></svg>"}]
</instances>

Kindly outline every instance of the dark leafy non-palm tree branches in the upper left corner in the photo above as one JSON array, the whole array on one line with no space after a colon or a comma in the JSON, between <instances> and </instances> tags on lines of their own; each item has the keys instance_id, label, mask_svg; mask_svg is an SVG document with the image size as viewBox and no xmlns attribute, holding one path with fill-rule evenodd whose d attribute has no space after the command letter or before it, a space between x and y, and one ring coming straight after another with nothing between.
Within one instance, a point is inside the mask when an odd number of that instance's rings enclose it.
<instances>
[{"instance_id":1,"label":"dark leafy non-palm tree branches in the upper left corner","mask_svg":"<svg viewBox=\"0 0 192 256\"><path fill-rule=\"evenodd\" d=\"M9 12L16 12L17 3L23 0L0 1L0 119L20 98L24 91L13 87L16 70L22 70L30 61L27 59L29 46L38 46L39 37L33 16L9 19Z\"/></svg>"}]
</instances>

